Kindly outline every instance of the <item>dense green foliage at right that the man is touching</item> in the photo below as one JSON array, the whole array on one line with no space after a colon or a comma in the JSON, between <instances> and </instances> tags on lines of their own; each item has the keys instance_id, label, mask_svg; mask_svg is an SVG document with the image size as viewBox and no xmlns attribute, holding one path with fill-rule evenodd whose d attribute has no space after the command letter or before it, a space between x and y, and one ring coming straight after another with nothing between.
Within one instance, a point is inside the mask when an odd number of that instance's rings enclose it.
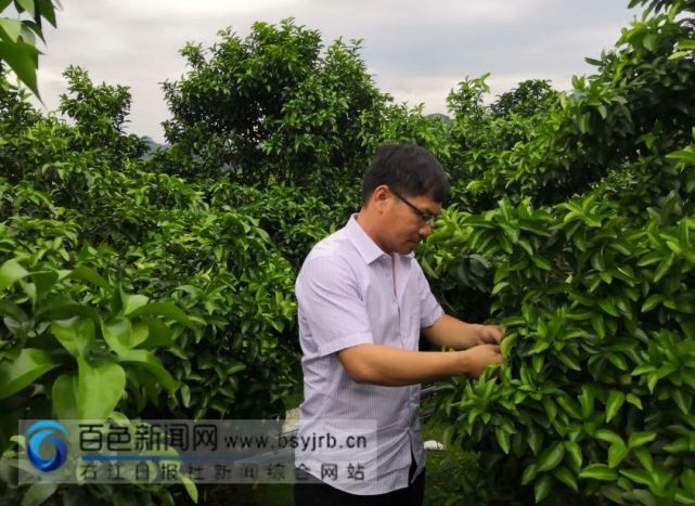
<instances>
[{"instance_id":1,"label":"dense green foliage at right that the man is touching","mask_svg":"<svg viewBox=\"0 0 695 506\"><path fill-rule=\"evenodd\" d=\"M462 202L498 203L433 234L429 274L507 328L506 366L446 388L452 437L480 455L452 503L695 502L692 14L623 30L528 140L473 169Z\"/></svg>"}]
</instances>

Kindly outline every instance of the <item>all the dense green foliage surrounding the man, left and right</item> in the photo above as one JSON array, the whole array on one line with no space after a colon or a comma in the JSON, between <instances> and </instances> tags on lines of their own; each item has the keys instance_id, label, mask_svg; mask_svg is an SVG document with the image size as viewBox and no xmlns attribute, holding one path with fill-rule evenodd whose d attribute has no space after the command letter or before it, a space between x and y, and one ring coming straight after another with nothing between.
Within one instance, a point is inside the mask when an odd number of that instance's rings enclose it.
<instances>
[{"instance_id":1,"label":"all the dense green foliage surrounding the man, left and right","mask_svg":"<svg viewBox=\"0 0 695 506\"><path fill-rule=\"evenodd\" d=\"M182 50L156 153L125 131L124 87L69 67L46 116L2 79L4 456L21 418L282 416L296 271L359 208L374 147L408 141L452 182L419 251L433 289L507 328L504 366L438 394L450 440L479 455L443 501L693 504L695 2L632 4L641 21L571 92L528 80L490 103L487 76L466 78L449 116L392 104L359 42L324 48L292 20L228 29ZM178 493L27 490L5 462L5 502Z\"/></svg>"}]
</instances>

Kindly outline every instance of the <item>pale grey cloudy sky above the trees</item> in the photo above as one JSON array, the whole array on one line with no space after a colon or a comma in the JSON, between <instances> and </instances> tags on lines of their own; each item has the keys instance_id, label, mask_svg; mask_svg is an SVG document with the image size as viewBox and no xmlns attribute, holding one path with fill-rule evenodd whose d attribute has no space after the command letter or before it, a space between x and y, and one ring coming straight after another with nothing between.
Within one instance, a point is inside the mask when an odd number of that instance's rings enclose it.
<instances>
[{"instance_id":1,"label":"pale grey cloudy sky above the trees","mask_svg":"<svg viewBox=\"0 0 695 506\"><path fill-rule=\"evenodd\" d=\"M640 15L628 0L62 0L47 30L39 88L47 109L65 91L62 72L86 68L95 82L130 87L129 131L162 142L169 117L160 83L185 72L186 41L209 47L217 31L246 36L255 21L293 16L324 46L362 39L362 59L396 102L446 113L449 91L491 73L492 98L529 78L570 88L591 74L584 56L614 46Z\"/></svg>"}]
</instances>

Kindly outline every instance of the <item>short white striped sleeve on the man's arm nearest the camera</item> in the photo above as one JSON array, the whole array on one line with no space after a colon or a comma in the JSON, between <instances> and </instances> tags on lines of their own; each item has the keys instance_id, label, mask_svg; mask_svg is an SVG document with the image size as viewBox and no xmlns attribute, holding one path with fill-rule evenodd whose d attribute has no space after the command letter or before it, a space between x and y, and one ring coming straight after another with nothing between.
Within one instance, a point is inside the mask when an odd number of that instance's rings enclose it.
<instances>
[{"instance_id":1,"label":"short white striped sleeve on the man's arm nearest the camera","mask_svg":"<svg viewBox=\"0 0 695 506\"><path fill-rule=\"evenodd\" d=\"M308 259L297 276L295 293L299 315L319 356L374 343L357 275L345 260Z\"/></svg>"}]
</instances>

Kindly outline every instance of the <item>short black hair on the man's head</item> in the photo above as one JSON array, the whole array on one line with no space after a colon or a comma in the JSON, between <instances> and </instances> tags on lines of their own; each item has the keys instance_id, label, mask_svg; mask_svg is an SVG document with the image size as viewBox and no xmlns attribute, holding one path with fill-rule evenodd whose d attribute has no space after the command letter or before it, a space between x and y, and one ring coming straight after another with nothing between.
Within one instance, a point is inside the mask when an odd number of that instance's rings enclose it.
<instances>
[{"instance_id":1,"label":"short black hair on the man's head","mask_svg":"<svg viewBox=\"0 0 695 506\"><path fill-rule=\"evenodd\" d=\"M406 198L428 195L442 204L449 196L449 181L441 165L435 155L414 144L378 147L362 180L362 205L382 184Z\"/></svg>"}]
</instances>

